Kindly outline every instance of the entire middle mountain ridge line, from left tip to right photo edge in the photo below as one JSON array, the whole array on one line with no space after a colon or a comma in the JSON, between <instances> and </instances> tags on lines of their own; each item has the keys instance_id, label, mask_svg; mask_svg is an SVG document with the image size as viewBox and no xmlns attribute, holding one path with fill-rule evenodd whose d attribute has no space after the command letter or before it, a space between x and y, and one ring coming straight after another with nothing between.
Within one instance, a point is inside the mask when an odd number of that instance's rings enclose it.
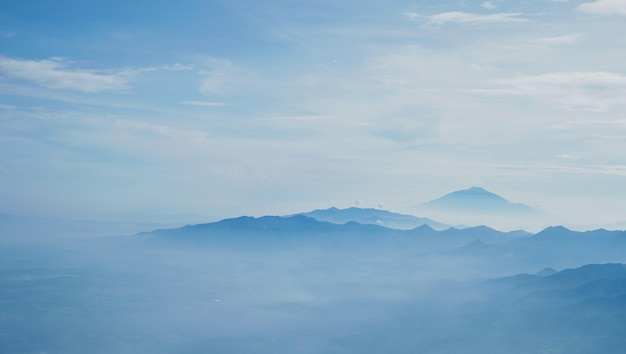
<instances>
[{"instance_id":1,"label":"entire middle mountain ridge line, from left tip to right photo edge","mask_svg":"<svg viewBox=\"0 0 626 354\"><path fill-rule=\"evenodd\" d=\"M139 235L144 241L194 247L404 249L416 254L436 253L453 258L480 259L486 264L519 266L512 270L528 269L535 264L542 268L562 269L588 263L621 262L626 250L625 231L577 232L558 226L530 234L525 231L502 232L487 226L435 230L426 224L399 230L354 221L335 224L304 215L239 217Z\"/></svg>"}]
</instances>

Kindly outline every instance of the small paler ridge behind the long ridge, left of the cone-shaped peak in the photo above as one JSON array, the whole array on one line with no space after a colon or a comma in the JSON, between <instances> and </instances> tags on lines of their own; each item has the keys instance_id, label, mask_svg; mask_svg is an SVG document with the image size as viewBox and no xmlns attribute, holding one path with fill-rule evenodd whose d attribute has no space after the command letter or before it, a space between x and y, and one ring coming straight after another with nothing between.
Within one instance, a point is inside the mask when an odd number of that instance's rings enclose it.
<instances>
[{"instance_id":1,"label":"small paler ridge behind the long ridge, left of the cone-shaped peak","mask_svg":"<svg viewBox=\"0 0 626 354\"><path fill-rule=\"evenodd\" d=\"M445 230L450 227L428 218L419 218L413 215L392 213L386 210L370 208L347 208L317 209L299 215L308 216L319 221L327 221L334 224L345 224L350 221L359 224L375 224L392 229L410 230L422 225L428 225L435 230Z\"/></svg>"}]
</instances>

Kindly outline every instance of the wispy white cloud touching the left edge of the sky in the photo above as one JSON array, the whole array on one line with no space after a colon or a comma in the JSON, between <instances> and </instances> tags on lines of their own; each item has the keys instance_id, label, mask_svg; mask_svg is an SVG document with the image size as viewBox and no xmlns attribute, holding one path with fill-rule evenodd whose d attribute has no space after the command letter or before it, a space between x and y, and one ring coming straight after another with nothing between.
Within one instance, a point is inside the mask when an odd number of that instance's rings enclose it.
<instances>
[{"instance_id":1,"label":"wispy white cloud touching the left edge of the sky","mask_svg":"<svg viewBox=\"0 0 626 354\"><path fill-rule=\"evenodd\" d=\"M94 70L68 69L62 59L12 59L0 57L0 72L56 90L81 92L119 91L128 87L119 74L98 73Z\"/></svg>"}]
</instances>

